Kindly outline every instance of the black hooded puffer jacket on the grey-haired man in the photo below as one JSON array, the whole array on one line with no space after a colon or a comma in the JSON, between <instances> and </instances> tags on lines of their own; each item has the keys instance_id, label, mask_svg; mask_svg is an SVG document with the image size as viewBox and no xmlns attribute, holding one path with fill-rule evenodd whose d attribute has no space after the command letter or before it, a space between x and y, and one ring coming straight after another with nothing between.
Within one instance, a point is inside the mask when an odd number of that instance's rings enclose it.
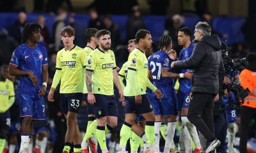
<instances>
[{"instance_id":1,"label":"black hooded puffer jacket on the grey-haired man","mask_svg":"<svg viewBox=\"0 0 256 153\"><path fill-rule=\"evenodd\" d=\"M174 63L174 68L193 69L191 92L218 94L225 75L220 48L218 36L204 36L188 60Z\"/></svg>"}]
</instances>

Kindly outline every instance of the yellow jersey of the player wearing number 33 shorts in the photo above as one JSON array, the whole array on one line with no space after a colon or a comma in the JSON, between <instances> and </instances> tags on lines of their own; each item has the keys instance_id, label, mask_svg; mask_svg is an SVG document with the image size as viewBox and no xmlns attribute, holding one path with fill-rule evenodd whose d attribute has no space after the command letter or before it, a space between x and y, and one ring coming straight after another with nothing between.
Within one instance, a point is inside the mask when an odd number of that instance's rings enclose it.
<instances>
[{"instance_id":1,"label":"yellow jersey of the player wearing number 33 shorts","mask_svg":"<svg viewBox=\"0 0 256 153\"><path fill-rule=\"evenodd\" d=\"M57 54L56 69L61 70L60 93L83 92L86 52L76 45L71 50L63 48Z\"/></svg>"}]
</instances>

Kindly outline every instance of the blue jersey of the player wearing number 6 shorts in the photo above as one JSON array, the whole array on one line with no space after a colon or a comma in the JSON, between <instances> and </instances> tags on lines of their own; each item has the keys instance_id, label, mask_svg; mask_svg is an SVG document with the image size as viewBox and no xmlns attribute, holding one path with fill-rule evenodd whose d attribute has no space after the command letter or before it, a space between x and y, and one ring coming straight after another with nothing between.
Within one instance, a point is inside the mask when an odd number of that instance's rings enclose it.
<instances>
[{"instance_id":1,"label":"blue jersey of the player wearing number 6 shorts","mask_svg":"<svg viewBox=\"0 0 256 153\"><path fill-rule=\"evenodd\" d=\"M187 48L182 48L180 50L180 55L179 55L179 60L184 61L189 59L191 56L193 49L194 49L195 44L191 43L189 47ZM186 71L192 71L191 69L181 69L180 73L185 73ZM181 92L190 92L191 90L191 80L187 78L180 78L179 79L180 87L179 91Z\"/></svg>"}]
</instances>

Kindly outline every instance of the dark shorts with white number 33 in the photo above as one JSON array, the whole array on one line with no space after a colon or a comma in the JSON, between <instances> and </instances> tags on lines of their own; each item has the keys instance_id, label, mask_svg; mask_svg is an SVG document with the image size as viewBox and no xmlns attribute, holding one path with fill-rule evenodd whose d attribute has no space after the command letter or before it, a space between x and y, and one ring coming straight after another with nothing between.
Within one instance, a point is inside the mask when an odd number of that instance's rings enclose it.
<instances>
[{"instance_id":1,"label":"dark shorts with white number 33","mask_svg":"<svg viewBox=\"0 0 256 153\"><path fill-rule=\"evenodd\" d=\"M60 94L60 107L64 114L68 112L79 112L83 100L82 93Z\"/></svg>"}]
</instances>

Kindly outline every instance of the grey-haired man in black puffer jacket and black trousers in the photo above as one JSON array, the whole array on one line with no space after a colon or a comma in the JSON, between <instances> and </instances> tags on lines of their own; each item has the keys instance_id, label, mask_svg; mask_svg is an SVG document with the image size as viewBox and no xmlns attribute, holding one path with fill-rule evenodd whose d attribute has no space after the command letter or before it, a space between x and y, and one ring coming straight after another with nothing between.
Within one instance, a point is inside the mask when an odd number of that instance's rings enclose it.
<instances>
[{"instance_id":1,"label":"grey-haired man in black puffer jacket and black trousers","mask_svg":"<svg viewBox=\"0 0 256 153\"><path fill-rule=\"evenodd\" d=\"M221 59L221 42L218 36L211 36L211 27L207 22L198 22L195 26L195 48L186 61L172 62L172 68L193 69L191 80L191 101L188 119L204 135L208 153L220 145L214 137L213 105L218 99L219 89L224 80L224 66Z\"/></svg>"}]
</instances>

